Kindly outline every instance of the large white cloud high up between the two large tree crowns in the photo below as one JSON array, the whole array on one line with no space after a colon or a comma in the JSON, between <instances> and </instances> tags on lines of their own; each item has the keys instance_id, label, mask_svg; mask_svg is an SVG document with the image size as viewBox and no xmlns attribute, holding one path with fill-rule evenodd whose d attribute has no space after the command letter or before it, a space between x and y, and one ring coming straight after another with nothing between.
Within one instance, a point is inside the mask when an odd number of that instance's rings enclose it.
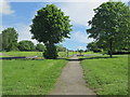
<instances>
[{"instance_id":1,"label":"large white cloud high up between the two large tree crowns","mask_svg":"<svg viewBox=\"0 0 130 97\"><path fill-rule=\"evenodd\" d=\"M94 16L93 9L98 8L102 2L72 2L61 6L62 11L68 15L73 24L88 26L88 22Z\"/></svg>"}]
</instances>

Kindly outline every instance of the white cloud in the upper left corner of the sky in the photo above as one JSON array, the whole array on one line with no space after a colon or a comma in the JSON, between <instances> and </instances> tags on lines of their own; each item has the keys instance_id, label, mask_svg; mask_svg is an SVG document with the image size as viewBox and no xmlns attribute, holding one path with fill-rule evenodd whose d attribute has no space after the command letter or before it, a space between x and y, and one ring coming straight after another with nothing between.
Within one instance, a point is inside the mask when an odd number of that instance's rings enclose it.
<instances>
[{"instance_id":1,"label":"white cloud in the upper left corner of the sky","mask_svg":"<svg viewBox=\"0 0 130 97\"><path fill-rule=\"evenodd\" d=\"M0 14L12 14L14 13L14 11L11 9L11 5L9 2L6 2L5 0L0 0Z\"/></svg>"}]
</instances>

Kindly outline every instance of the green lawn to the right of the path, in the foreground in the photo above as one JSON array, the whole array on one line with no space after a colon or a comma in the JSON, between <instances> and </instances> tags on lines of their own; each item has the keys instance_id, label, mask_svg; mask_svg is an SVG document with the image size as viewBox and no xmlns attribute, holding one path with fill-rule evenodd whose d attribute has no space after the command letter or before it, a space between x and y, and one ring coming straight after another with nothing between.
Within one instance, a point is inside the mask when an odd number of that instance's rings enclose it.
<instances>
[{"instance_id":1,"label":"green lawn to the right of the path, in the foreground","mask_svg":"<svg viewBox=\"0 0 130 97\"><path fill-rule=\"evenodd\" d=\"M88 58L81 61L88 85L99 95L128 94L128 56L107 57L83 57Z\"/></svg>"}]
</instances>

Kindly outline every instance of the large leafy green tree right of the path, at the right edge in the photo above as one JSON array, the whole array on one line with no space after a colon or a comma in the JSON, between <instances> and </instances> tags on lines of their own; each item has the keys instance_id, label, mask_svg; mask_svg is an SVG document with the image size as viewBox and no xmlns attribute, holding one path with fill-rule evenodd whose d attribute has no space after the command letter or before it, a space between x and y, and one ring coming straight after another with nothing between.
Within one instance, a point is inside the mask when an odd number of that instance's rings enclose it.
<instances>
[{"instance_id":1,"label":"large leafy green tree right of the path, at the right edge","mask_svg":"<svg viewBox=\"0 0 130 97\"><path fill-rule=\"evenodd\" d=\"M122 2L105 2L94 9L95 15L89 22L89 38L96 40L112 57L115 50L127 45L130 38L130 8Z\"/></svg>"}]
</instances>

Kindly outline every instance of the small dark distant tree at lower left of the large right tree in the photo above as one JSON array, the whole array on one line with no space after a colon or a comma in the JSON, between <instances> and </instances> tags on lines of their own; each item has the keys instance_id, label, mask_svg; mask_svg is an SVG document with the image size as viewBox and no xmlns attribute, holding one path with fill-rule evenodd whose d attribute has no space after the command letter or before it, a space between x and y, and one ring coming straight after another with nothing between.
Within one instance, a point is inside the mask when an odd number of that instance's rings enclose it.
<instances>
[{"instance_id":1,"label":"small dark distant tree at lower left of the large right tree","mask_svg":"<svg viewBox=\"0 0 130 97\"><path fill-rule=\"evenodd\" d=\"M96 42L90 42L87 45L88 51L101 52L102 50L98 46Z\"/></svg>"}]
</instances>

